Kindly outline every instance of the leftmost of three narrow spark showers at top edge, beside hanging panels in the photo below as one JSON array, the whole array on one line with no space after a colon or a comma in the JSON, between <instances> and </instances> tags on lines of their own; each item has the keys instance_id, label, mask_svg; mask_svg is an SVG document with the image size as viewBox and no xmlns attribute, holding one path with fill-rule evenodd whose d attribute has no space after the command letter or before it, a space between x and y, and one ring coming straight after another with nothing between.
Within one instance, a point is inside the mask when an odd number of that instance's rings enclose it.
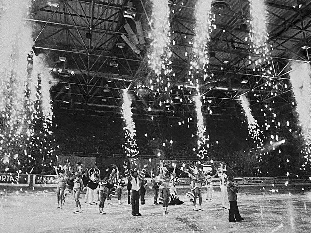
<instances>
[{"instance_id":1,"label":"leftmost of three narrow spark showers at top edge, beside hanging panels","mask_svg":"<svg viewBox=\"0 0 311 233\"><path fill-rule=\"evenodd\" d=\"M167 69L167 58L172 55L172 52L168 49L170 44L170 10L167 0L152 0L152 2L151 32L149 36L153 41L150 43L148 64L156 75L160 75L162 69ZM166 62L163 60L164 57Z\"/></svg>"}]
</instances>

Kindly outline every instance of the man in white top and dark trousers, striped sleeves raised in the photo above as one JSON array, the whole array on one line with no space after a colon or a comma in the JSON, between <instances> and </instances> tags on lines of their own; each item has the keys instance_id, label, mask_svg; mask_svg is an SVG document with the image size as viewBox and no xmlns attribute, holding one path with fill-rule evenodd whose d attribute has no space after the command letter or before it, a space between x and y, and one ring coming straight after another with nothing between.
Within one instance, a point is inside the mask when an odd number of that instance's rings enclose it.
<instances>
[{"instance_id":1,"label":"man in white top and dark trousers, striped sleeves raised","mask_svg":"<svg viewBox=\"0 0 311 233\"><path fill-rule=\"evenodd\" d=\"M139 212L139 190L141 181L145 178L146 174L146 167L147 164L144 165L142 171L138 174L136 170L132 170L131 172L128 171L127 162L124 163L124 174L128 178L128 182L132 184L131 190L131 198L132 198L132 215L133 216L141 216L142 214Z\"/></svg>"}]
</instances>

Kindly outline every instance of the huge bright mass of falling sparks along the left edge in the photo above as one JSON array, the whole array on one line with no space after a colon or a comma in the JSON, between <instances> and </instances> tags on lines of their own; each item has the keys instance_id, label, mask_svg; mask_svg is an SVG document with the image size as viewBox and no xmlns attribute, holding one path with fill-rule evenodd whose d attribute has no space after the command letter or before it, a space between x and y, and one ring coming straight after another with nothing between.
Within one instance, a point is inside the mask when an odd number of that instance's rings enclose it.
<instances>
[{"instance_id":1,"label":"huge bright mass of falling sparks along the left edge","mask_svg":"<svg viewBox=\"0 0 311 233\"><path fill-rule=\"evenodd\" d=\"M45 156L54 151L52 140L46 138L51 135L49 126L52 124L52 106L49 96L50 83L55 83L46 68L42 56L34 57L33 66L30 64L30 52L34 41L32 29L25 22L30 1L4 1L0 21L0 48L2 56L0 61L0 111L1 111L1 135L0 153L2 162L10 162L10 159L18 159L23 154L28 158L29 164L35 160L31 152L42 145L46 150ZM28 60L27 60L28 57ZM33 72L31 71L33 69ZM40 76L40 83L38 78ZM38 92L39 90L39 92ZM39 106L39 102L41 106ZM44 119L40 121L41 112ZM34 124L43 125L37 133ZM42 134L42 142L35 142ZM30 152L30 153L27 153ZM42 149L40 148L40 152ZM43 157L44 159L44 157ZM29 167L28 165L24 165ZM20 161L16 165L20 165ZM46 165L44 165L46 166ZM30 168L31 171L33 168Z\"/></svg>"}]
</instances>

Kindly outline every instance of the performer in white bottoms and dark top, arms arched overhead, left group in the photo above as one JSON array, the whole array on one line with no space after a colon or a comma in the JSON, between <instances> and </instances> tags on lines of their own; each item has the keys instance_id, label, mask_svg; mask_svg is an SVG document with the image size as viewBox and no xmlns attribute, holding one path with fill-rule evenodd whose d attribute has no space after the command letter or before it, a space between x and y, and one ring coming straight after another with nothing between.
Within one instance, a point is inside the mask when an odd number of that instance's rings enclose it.
<instances>
[{"instance_id":1,"label":"performer in white bottoms and dark top, arms arched overhead, left group","mask_svg":"<svg viewBox=\"0 0 311 233\"><path fill-rule=\"evenodd\" d=\"M97 167L92 167L87 171L87 194L85 195L85 203L90 205L95 204L98 201L99 195L97 193L98 178L100 176L100 170Z\"/></svg>"}]
</instances>

